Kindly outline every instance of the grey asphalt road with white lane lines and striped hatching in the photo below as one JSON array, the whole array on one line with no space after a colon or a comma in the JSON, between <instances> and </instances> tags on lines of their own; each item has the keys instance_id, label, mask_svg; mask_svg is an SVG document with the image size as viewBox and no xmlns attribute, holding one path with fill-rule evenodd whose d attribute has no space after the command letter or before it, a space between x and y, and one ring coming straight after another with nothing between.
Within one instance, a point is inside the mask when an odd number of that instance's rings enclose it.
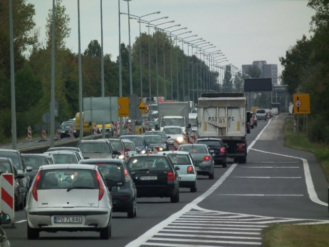
<instances>
[{"instance_id":1,"label":"grey asphalt road with white lane lines and striped hatching","mask_svg":"<svg viewBox=\"0 0 329 247\"><path fill-rule=\"evenodd\" d=\"M98 233L44 233L26 238L25 212L5 228L15 246L261 246L269 224L329 223L328 183L313 154L284 147L285 116L259 121L248 134L246 164L229 159L215 179L198 176L198 191L180 189L179 203L140 198L137 217L114 213L112 238ZM59 199L60 200L60 199Z\"/></svg>"}]
</instances>

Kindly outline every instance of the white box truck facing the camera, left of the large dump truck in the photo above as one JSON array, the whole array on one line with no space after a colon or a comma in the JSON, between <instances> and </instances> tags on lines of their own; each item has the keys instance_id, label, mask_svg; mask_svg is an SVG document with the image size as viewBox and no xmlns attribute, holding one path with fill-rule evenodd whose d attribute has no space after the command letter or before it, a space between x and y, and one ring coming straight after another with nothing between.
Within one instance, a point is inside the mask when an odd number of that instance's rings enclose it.
<instances>
[{"instance_id":1,"label":"white box truck facing the camera, left of the large dump truck","mask_svg":"<svg viewBox=\"0 0 329 247\"><path fill-rule=\"evenodd\" d=\"M184 135L189 126L190 102L162 102L158 103L158 125L160 131L165 126L179 126Z\"/></svg>"}]
</instances>

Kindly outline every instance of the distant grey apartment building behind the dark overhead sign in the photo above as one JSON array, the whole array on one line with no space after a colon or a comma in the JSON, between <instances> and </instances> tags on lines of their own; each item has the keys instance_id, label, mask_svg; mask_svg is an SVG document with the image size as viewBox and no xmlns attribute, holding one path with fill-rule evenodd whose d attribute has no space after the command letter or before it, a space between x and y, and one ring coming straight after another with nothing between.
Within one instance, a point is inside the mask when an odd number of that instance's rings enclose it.
<instances>
[{"instance_id":1,"label":"distant grey apartment building behind the dark overhead sign","mask_svg":"<svg viewBox=\"0 0 329 247\"><path fill-rule=\"evenodd\" d=\"M252 64L243 64L242 73L248 74L250 67L258 67L263 78L272 78L272 85L278 85L278 65L267 64L266 61L253 61Z\"/></svg>"}]
</instances>

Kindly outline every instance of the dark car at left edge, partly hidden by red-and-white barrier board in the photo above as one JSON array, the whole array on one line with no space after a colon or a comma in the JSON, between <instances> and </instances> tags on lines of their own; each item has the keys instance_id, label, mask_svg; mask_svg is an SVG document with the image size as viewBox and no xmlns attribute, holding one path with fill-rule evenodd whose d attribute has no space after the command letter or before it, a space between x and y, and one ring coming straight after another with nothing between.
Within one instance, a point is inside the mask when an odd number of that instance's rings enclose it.
<instances>
[{"instance_id":1,"label":"dark car at left edge, partly hidden by red-and-white barrier board","mask_svg":"<svg viewBox=\"0 0 329 247\"><path fill-rule=\"evenodd\" d=\"M14 177L14 210L22 210L24 208L24 192L20 188L23 187L23 184L20 182L25 175L18 173L15 167L15 164L11 158L2 158L0 157L0 174L2 173L11 173Z\"/></svg>"}]
</instances>

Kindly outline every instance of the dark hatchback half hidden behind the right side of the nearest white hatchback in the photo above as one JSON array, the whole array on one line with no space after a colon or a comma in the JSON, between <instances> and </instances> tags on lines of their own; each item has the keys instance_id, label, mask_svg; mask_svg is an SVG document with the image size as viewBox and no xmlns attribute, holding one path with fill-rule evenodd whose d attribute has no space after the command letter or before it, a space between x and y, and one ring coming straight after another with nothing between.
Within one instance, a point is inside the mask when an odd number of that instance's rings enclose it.
<instances>
[{"instance_id":1,"label":"dark hatchback half hidden behind the right side of the nearest white hatchback","mask_svg":"<svg viewBox=\"0 0 329 247\"><path fill-rule=\"evenodd\" d=\"M99 167L108 190L111 191L114 212L127 212L128 218L136 217L137 191L124 161L115 158L95 158L79 163Z\"/></svg>"}]
</instances>

